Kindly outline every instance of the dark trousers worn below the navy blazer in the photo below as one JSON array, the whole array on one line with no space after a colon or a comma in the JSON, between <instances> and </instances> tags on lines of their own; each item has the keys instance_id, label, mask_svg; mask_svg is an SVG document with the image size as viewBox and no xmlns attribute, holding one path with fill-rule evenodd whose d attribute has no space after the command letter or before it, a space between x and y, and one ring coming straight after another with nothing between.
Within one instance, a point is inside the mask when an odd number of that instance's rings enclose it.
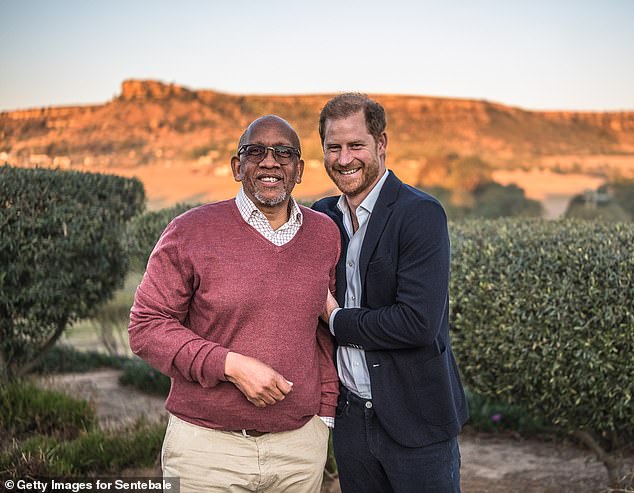
<instances>
[{"instance_id":1,"label":"dark trousers worn below the navy blazer","mask_svg":"<svg viewBox=\"0 0 634 493\"><path fill-rule=\"evenodd\" d=\"M372 401L341 389L333 446L342 493L459 493L457 438L424 447L396 443Z\"/></svg>"}]
</instances>

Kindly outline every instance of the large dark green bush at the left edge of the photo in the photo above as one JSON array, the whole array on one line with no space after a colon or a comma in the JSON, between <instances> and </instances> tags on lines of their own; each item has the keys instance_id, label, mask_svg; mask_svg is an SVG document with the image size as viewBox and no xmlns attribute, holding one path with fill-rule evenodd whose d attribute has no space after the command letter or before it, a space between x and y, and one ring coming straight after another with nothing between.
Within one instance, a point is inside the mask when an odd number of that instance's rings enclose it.
<instances>
[{"instance_id":1,"label":"large dark green bush at the left edge of the photo","mask_svg":"<svg viewBox=\"0 0 634 493\"><path fill-rule=\"evenodd\" d=\"M0 381L24 373L128 270L120 238L144 203L137 179L0 168Z\"/></svg>"}]
</instances>

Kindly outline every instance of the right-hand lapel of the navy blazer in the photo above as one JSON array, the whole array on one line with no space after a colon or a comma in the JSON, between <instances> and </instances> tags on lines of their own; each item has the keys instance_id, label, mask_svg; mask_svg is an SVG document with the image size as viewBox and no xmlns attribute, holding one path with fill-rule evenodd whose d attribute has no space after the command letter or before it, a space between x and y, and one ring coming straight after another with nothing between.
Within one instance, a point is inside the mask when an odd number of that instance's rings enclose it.
<instances>
[{"instance_id":1,"label":"right-hand lapel of the navy blazer","mask_svg":"<svg viewBox=\"0 0 634 493\"><path fill-rule=\"evenodd\" d=\"M376 245L381 238L381 233L392 215L392 205L396 201L401 184L401 180L390 171L376 204L374 204L374 208L372 209L368 228L363 239L363 245L361 246L361 254L359 255L359 273L361 275L362 284L365 284L364 280L366 272L368 271L370 257L372 253L374 253Z\"/></svg>"}]
</instances>

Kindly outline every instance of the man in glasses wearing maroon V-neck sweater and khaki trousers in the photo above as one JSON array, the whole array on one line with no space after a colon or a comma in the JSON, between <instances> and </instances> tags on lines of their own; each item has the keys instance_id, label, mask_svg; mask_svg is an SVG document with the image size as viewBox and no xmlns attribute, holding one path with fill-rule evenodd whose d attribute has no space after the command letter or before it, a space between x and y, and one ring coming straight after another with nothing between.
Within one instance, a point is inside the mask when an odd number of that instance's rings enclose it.
<instances>
[{"instance_id":1,"label":"man in glasses wearing maroon V-neck sweater and khaki trousers","mask_svg":"<svg viewBox=\"0 0 634 493\"><path fill-rule=\"evenodd\" d=\"M340 235L291 197L300 156L286 121L251 123L235 200L174 219L137 290L130 346L171 377L162 467L182 491L320 489L338 385L318 317Z\"/></svg>"}]
</instances>

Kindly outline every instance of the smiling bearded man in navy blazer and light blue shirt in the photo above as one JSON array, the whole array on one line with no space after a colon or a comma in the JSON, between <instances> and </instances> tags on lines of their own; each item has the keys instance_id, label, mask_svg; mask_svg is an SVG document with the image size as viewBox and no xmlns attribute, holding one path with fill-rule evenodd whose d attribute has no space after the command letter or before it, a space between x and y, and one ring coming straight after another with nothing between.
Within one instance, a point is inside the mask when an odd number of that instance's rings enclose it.
<instances>
[{"instance_id":1,"label":"smiling bearded man in navy blazer and light blue shirt","mask_svg":"<svg viewBox=\"0 0 634 493\"><path fill-rule=\"evenodd\" d=\"M322 109L328 175L341 190L313 208L339 226L333 443L343 493L460 491L457 435L467 403L449 340L447 218L385 165L383 107L348 93Z\"/></svg>"}]
</instances>

